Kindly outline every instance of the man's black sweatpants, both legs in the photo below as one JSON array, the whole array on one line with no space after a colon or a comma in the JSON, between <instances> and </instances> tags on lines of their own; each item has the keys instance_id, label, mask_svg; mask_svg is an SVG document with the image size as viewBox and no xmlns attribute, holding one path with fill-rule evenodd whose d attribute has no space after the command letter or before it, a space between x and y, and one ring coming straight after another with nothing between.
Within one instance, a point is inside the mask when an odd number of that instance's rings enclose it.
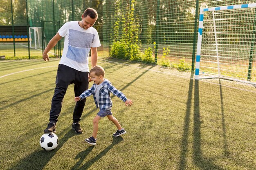
<instances>
[{"instance_id":1,"label":"man's black sweatpants, both legs","mask_svg":"<svg viewBox=\"0 0 256 170\"><path fill-rule=\"evenodd\" d=\"M74 93L75 96L81 95L85 90L88 89L89 81L88 81L89 72L81 72L77 71L74 68L69 66L59 64L57 75L56 75L56 88L54 90L54 95L52 97L52 108L50 110L50 119L49 121L58 121L58 116L61 113L61 107L64 95L67 91L67 86L70 84L74 85ZM73 122L80 121L80 118L83 113L83 108L85 106L86 98L76 102L76 106L74 108L73 113Z\"/></svg>"}]
</instances>

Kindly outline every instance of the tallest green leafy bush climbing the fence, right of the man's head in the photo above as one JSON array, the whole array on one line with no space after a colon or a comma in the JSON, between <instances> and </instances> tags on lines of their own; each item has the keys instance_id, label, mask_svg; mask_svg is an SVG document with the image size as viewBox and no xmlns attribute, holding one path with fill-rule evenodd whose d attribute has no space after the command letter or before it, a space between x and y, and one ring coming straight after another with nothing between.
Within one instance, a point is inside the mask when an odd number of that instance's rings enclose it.
<instances>
[{"instance_id":1,"label":"tallest green leafy bush climbing the fence, right of the man's head","mask_svg":"<svg viewBox=\"0 0 256 170\"><path fill-rule=\"evenodd\" d=\"M139 51L139 23L136 20L137 16L134 15L134 7L135 0L130 1L126 12L120 9L119 0L115 3L116 21L113 27L114 34L111 35L113 43L110 47L110 57L126 60L141 60L142 58Z\"/></svg>"}]
</instances>

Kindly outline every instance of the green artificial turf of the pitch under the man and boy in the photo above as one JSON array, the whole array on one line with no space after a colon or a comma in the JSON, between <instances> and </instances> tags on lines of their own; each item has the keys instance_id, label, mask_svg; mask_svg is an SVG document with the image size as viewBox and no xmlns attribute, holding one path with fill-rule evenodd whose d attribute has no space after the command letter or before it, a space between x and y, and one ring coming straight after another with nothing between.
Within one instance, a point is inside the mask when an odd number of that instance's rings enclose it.
<instances>
[{"instance_id":1,"label":"green artificial turf of the pitch under the man and boy","mask_svg":"<svg viewBox=\"0 0 256 170\"><path fill-rule=\"evenodd\" d=\"M255 87L105 57L98 60L105 78L133 100L126 107L112 96L112 113L127 133L112 137L117 128L103 118L96 146L85 143L98 109L88 97L83 134L71 130L70 85L56 124L58 147L43 150L58 62L0 61L0 169L256 169Z\"/></svg>"}]
</instances>

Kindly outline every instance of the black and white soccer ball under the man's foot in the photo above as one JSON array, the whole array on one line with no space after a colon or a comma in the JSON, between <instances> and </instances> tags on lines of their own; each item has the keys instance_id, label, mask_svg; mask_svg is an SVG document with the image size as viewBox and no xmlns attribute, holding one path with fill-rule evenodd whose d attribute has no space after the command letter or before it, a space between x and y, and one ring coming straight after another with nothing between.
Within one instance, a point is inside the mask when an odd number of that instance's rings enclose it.
<instances>
[{"instance_id":1,"label":"black and white soccer ball under the man's foot","mask_svg":"<svg viewBox=\"0 0 256 170\"><path fill-rule=\"evenodd\" d=\"M45 133L41 136L39 142L44 150L53 150L58 146L58 137L55 133Z\"/></svg>"}]
</instances>

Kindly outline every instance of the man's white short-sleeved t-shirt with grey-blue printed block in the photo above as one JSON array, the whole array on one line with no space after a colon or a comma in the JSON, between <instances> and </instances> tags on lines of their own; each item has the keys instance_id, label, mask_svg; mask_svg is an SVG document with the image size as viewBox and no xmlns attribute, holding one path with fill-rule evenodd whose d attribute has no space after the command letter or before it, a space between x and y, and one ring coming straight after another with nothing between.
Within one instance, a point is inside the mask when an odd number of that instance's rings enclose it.
<instances>
[{"instance_id":1,"label":"man's white short-sleeved t-shirt with grey-blue printed block","mask_svg":"<svg viewBox=\"0 0 256 170\"><path fill-rule=\"evenodd\" d=\"M78 21L66 22L58 30L61 37L65 37L63 54L59 64L64 64L78 71L88 71L88 56L91 47L99 47L99 35L96 29L83 29Z\"/></svg>"}]
</instances>

